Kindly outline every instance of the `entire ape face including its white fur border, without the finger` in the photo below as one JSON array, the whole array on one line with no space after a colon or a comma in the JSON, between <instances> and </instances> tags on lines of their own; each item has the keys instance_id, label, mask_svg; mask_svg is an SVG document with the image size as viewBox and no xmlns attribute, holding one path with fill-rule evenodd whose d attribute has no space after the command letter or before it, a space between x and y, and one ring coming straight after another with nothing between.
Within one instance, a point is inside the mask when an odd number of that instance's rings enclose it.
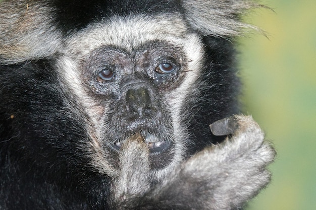
<instances>
[{"instance_id":1,"label":"entire ape face including its white fur border, without the finger","mask_svg":"<svg viewBox=\"0 0 316 210\"><path fill-rule=\"evenodd\" d=\"M94 166L102 171L106 162L116 171L121 145L135 133L147 144L153 177L180 163L189 138L185 100L202 54L180 17L112 19L68 42L58 65L86 113L92 150L99 151L91 155Z\"/></svg>"}]
</instances>

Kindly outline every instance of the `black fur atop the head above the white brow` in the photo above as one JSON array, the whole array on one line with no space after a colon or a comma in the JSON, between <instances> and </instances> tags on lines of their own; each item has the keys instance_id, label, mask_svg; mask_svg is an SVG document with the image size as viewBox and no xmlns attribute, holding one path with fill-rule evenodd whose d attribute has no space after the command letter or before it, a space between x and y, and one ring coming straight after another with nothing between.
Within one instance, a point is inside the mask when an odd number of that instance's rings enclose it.
<instances>
[{"instance_id":1,"label":"black fur atop the head above the white brow","mask_svg":"<svg viewBox=\"0 0 316 210\"><path fill-rule=\"evenodd\" d=\"M56 22L66 33L80 30L89 23L109 18L113 15L128 16L133 14L156 15L181 11L179 1L51 1L56 8ZM170 11L172 10L172 11Z\"/></svg>"}]
</instances>

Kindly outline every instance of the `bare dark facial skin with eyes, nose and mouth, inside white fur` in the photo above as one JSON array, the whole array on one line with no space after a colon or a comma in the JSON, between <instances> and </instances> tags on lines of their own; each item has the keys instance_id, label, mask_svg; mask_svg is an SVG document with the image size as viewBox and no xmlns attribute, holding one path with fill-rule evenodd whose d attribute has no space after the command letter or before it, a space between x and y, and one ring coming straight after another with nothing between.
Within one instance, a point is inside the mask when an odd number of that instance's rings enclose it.
<instances>
[{"instance_id":1,"label":"bare dark facial skin with eyes, nose and mouth, inside white fur","mask_svg":"<svg viewBox=\"0 0 316 210\"><path fill-rule=\"evenodd\" d=\"M142 46L132 53L102 47L89 57L84 73L88 95L103 108L98 119L101 141L116 152L126 138L141 133L155 169L170 164L175 147L167 93L180 83L181 66L179 58L165 55L166 50L172 54L170 49L157 50L156 46Z\"/></svg>"}]
</instances>

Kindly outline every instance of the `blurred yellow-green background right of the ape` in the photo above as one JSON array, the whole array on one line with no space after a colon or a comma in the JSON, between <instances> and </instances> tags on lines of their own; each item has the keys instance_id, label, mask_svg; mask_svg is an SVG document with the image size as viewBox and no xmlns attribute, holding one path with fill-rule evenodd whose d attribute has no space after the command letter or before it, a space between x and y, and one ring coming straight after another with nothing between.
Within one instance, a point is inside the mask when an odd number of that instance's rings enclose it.
<instances>
[{"instance_id":1,"label":"blurred yellow-green background right of the ape","mask_svg":"<svg viewBox=\"0 0 316 210\"><path fill-rule=\"evenodd\" d=\"M246 20L268 33L242 38L244 112L278 152L272 182L247 210L316 209L316 1L267 0Z\"/></svg>"}]
</instances>

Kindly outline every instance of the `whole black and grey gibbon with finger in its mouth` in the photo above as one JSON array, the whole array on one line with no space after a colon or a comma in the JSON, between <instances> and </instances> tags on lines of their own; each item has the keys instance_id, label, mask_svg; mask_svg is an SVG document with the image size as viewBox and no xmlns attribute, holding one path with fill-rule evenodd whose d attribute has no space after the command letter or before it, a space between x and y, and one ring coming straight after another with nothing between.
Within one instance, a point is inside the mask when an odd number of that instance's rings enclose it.
<instances>
[{"instance_id":1,"label":"whole black and grey gibbon with finger in its mouth","mask_svg":"<svg viewBox=\"0 0 316 210\"><path fill-rule=\"evenodd\" d=\"M241 209L275 150L240 114L248 0L0 3L0 209Z\"/></svg>"}]
</instances>

